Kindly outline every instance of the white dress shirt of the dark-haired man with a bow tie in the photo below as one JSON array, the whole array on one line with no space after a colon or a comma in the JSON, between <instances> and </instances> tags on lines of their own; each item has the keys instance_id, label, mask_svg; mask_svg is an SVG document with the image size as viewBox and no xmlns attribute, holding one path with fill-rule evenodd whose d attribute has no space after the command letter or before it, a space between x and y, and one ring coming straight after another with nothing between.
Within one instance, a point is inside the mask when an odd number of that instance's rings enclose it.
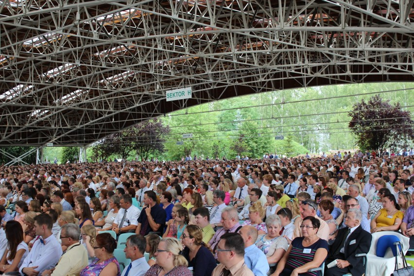
<instances>
[{"instance_id":1,"label":"white dress shirt of the dark-haired man with a bow tie","mask_svg":"<svg viewBox=\"0 0 414 276\"><path fill-rule=\"evenodd\" d=\"M44 241L37 239L33 244L32 250L29 255L24 259L22 265L19 268L19 272L23 275L23 268L37 266L36 271L39 275L47 269L55 267L62 256L62 247L53 235L50 235Z\"/></svg>"}]
</instances>

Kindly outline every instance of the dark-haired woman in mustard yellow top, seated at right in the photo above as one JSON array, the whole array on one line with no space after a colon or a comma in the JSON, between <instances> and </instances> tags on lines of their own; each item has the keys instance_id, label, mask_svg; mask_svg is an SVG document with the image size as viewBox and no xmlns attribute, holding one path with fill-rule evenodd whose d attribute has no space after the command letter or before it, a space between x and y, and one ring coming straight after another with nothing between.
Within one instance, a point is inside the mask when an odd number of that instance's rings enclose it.
<instances>
[{"instance_id":1,"label":"dark-haired woman in mustard yellow top, seated at right","mask_svg":"<svg viewBox=\"0 0 414 276\"><path fill-rule=\"evenodd\" d=\"M397 231L402 223L404 214L396 202L393 194L386 195L382 199L382 209L371 220L371 233L378 231Z\"/></svg>"}]
</instances>

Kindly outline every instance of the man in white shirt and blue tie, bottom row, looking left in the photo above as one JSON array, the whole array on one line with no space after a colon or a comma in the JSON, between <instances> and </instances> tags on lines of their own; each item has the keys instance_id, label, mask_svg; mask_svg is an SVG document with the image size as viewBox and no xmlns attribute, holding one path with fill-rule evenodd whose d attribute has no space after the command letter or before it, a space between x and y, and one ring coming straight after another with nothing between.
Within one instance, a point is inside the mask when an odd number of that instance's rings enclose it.
<instances>
[{"instance_id":1,"label":"man in white shirt and blue tie, bottom row, looking left","mask_svg":"<svg viewBox=\"0 0 414 276\"><path fill-rule=\"evenodd\" d=\"M143 276L150 269L144 257L147 241L141 235L132 235L126 240L123 250L125 257L131 259L131 263L125 267L121 276Z\"/></svg>"}]
</instances>

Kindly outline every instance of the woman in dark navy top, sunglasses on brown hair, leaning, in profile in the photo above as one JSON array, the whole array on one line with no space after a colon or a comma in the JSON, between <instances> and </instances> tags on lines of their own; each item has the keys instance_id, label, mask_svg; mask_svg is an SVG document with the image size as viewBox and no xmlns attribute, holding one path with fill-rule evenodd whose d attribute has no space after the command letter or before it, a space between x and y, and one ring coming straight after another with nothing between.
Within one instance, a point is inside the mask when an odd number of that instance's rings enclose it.
<instances>
[{"instance_id":1,"label":"woman in dark navy top, sunglasses on brown hair, leaning, in profile","mask_svg":"<svg viewBox=\"0 0 414 276\"><path fill-rule=\"evenodd\" d=\"M203 232L197 225L188 225L181 236L185 246L183 256L192 267L193 276L210 276L216 267L216 260L208 244L203 242Z\"/></svg>"}]
</instances>

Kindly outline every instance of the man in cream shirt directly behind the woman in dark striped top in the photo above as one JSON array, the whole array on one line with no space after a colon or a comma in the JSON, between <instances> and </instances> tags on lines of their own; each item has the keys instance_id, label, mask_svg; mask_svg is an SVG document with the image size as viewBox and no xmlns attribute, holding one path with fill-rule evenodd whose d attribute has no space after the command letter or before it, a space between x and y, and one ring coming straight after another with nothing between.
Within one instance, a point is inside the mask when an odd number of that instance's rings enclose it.
<instances>
[{"instance_id":1,"label":"man in cream shirt directly behind the woman in dark striped top","mask_svg":"<svg viewBox=\"0 0 414 276\"><path fill-rule=\"evenodd\" d=\"M302 224L302 221L303 221L302 218L312 216L321 223L321 226L319 227L318 233L316 233L316 236L318 236L322 240L328 241L329 226L324 220L322 220L316 215L316 210L318 209L318 205L316 204L316 202L314 200L307 199L307 200L302 201L302 203L300 204L300 207L301 207L300 208L301 217L296 218L294 222L295 229L293 231L293 239L297 237L302 237L302 231L300 231L300 225Z\"/></svg>"}]
</instances>

